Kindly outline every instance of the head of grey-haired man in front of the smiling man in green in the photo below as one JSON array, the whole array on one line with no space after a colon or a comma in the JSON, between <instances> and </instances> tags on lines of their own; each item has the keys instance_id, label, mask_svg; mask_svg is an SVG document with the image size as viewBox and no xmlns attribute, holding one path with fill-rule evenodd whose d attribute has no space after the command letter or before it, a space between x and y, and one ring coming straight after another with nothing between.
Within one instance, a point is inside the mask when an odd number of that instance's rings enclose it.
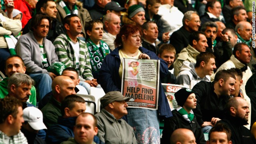
<instances>
[{"instance_id":1,"label":"head of grey-haired man in front of the smiling man in green","mask_svg":"<svg viewBox=\"0 0 256 144\"><path fill-rule=\"evenodd\" d=\"M22 101L22 108L31 106L32 104L26 103L31 95L31 87L34 85L34 80L27 74L15 73L8 79L7 89L8 96L15 97ZM32 105L34 106L34 105Z\"/></svg>"}]
</instances>

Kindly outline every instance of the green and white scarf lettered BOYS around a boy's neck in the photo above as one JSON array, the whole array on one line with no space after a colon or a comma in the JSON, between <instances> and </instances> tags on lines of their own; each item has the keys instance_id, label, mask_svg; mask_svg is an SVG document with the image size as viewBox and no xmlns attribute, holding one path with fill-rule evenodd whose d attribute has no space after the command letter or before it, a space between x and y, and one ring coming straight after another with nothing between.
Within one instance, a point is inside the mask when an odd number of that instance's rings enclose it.
<instances>
[{"instance_id":1,"label":"green and white scarf lettered BOYS around a boy's neck","mask_svg":"<svg viewBox=\"0 0 256 144\"><path fill-rule=\"evenodd\" d=\"M108 44L102 40L100 40L100 48L98 48L98 46L96 46L96 44L94 44L90 38L86 40L86 45L88 47L88 54L90 57L92 71L99 71L103 59L110 53L110 48Z\"/></svg>"}]
</instances>

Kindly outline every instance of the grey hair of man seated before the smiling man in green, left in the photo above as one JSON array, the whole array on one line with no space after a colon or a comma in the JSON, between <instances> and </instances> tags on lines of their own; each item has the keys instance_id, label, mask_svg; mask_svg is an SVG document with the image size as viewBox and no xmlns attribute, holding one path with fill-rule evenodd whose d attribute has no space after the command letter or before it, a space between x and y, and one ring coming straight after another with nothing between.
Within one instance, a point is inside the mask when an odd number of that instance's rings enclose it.
<instances>
[{"instance_id":1,"label":"grey hair of man seated before the smiling man in green, left","mask_svg":"<svg viewBox=\"0 0 256 144\"><path fill-rule=\"evenodd\" d=\"M35 81L27 74L15 73L8 79L7 90L9 91L11 85L19 87L21 84L34 85Z\"/></svg>"}]
</instances>

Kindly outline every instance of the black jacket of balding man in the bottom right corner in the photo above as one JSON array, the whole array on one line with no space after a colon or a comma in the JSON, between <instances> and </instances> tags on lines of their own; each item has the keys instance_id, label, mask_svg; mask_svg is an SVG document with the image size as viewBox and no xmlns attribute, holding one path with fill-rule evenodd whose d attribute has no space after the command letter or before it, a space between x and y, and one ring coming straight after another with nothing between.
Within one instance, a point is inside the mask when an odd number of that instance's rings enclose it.
<instances>
[{"instance_id":1,"label":"black jacket of balding man in the bottom right corner","mask_svg":"<svg viewBox=\"0 0 256 144\"><path fill-rule=\"evenodd\" d=\"M244 120L228 115L218 123L225 124L231 130L232 144L255 144L255 139L244 125L248 124Z\"/></svg>"}]
</instances>

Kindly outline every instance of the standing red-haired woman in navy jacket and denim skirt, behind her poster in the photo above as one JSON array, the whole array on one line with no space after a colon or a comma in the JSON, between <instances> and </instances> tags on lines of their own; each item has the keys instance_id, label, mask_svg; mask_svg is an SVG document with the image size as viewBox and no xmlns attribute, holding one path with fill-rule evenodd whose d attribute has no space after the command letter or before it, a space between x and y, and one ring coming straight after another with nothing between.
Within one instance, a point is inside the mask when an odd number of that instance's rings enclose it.
<instances>
[{"instance_id":1,"label":"standing red-haired woman in navy jacket and denim skirt, behind her poster","mask_svg":"<svg viewBox=\"0 0 256 144\"><path fill-rule=\"evenodd\" d=\"M121 58L159 60L154 52L140 47L142 31L138 26L124 25L114 41L117 47L108 54L100 69L100 83L105 93L121 91ZM160 77L168 73L167 63L160 59ZM160 144L159 116L170 117L172 112L164 94L162 84L159 86L158 110L127 108L127 121L134 129L138 144Z\"/></svg>"}]
</instances>

